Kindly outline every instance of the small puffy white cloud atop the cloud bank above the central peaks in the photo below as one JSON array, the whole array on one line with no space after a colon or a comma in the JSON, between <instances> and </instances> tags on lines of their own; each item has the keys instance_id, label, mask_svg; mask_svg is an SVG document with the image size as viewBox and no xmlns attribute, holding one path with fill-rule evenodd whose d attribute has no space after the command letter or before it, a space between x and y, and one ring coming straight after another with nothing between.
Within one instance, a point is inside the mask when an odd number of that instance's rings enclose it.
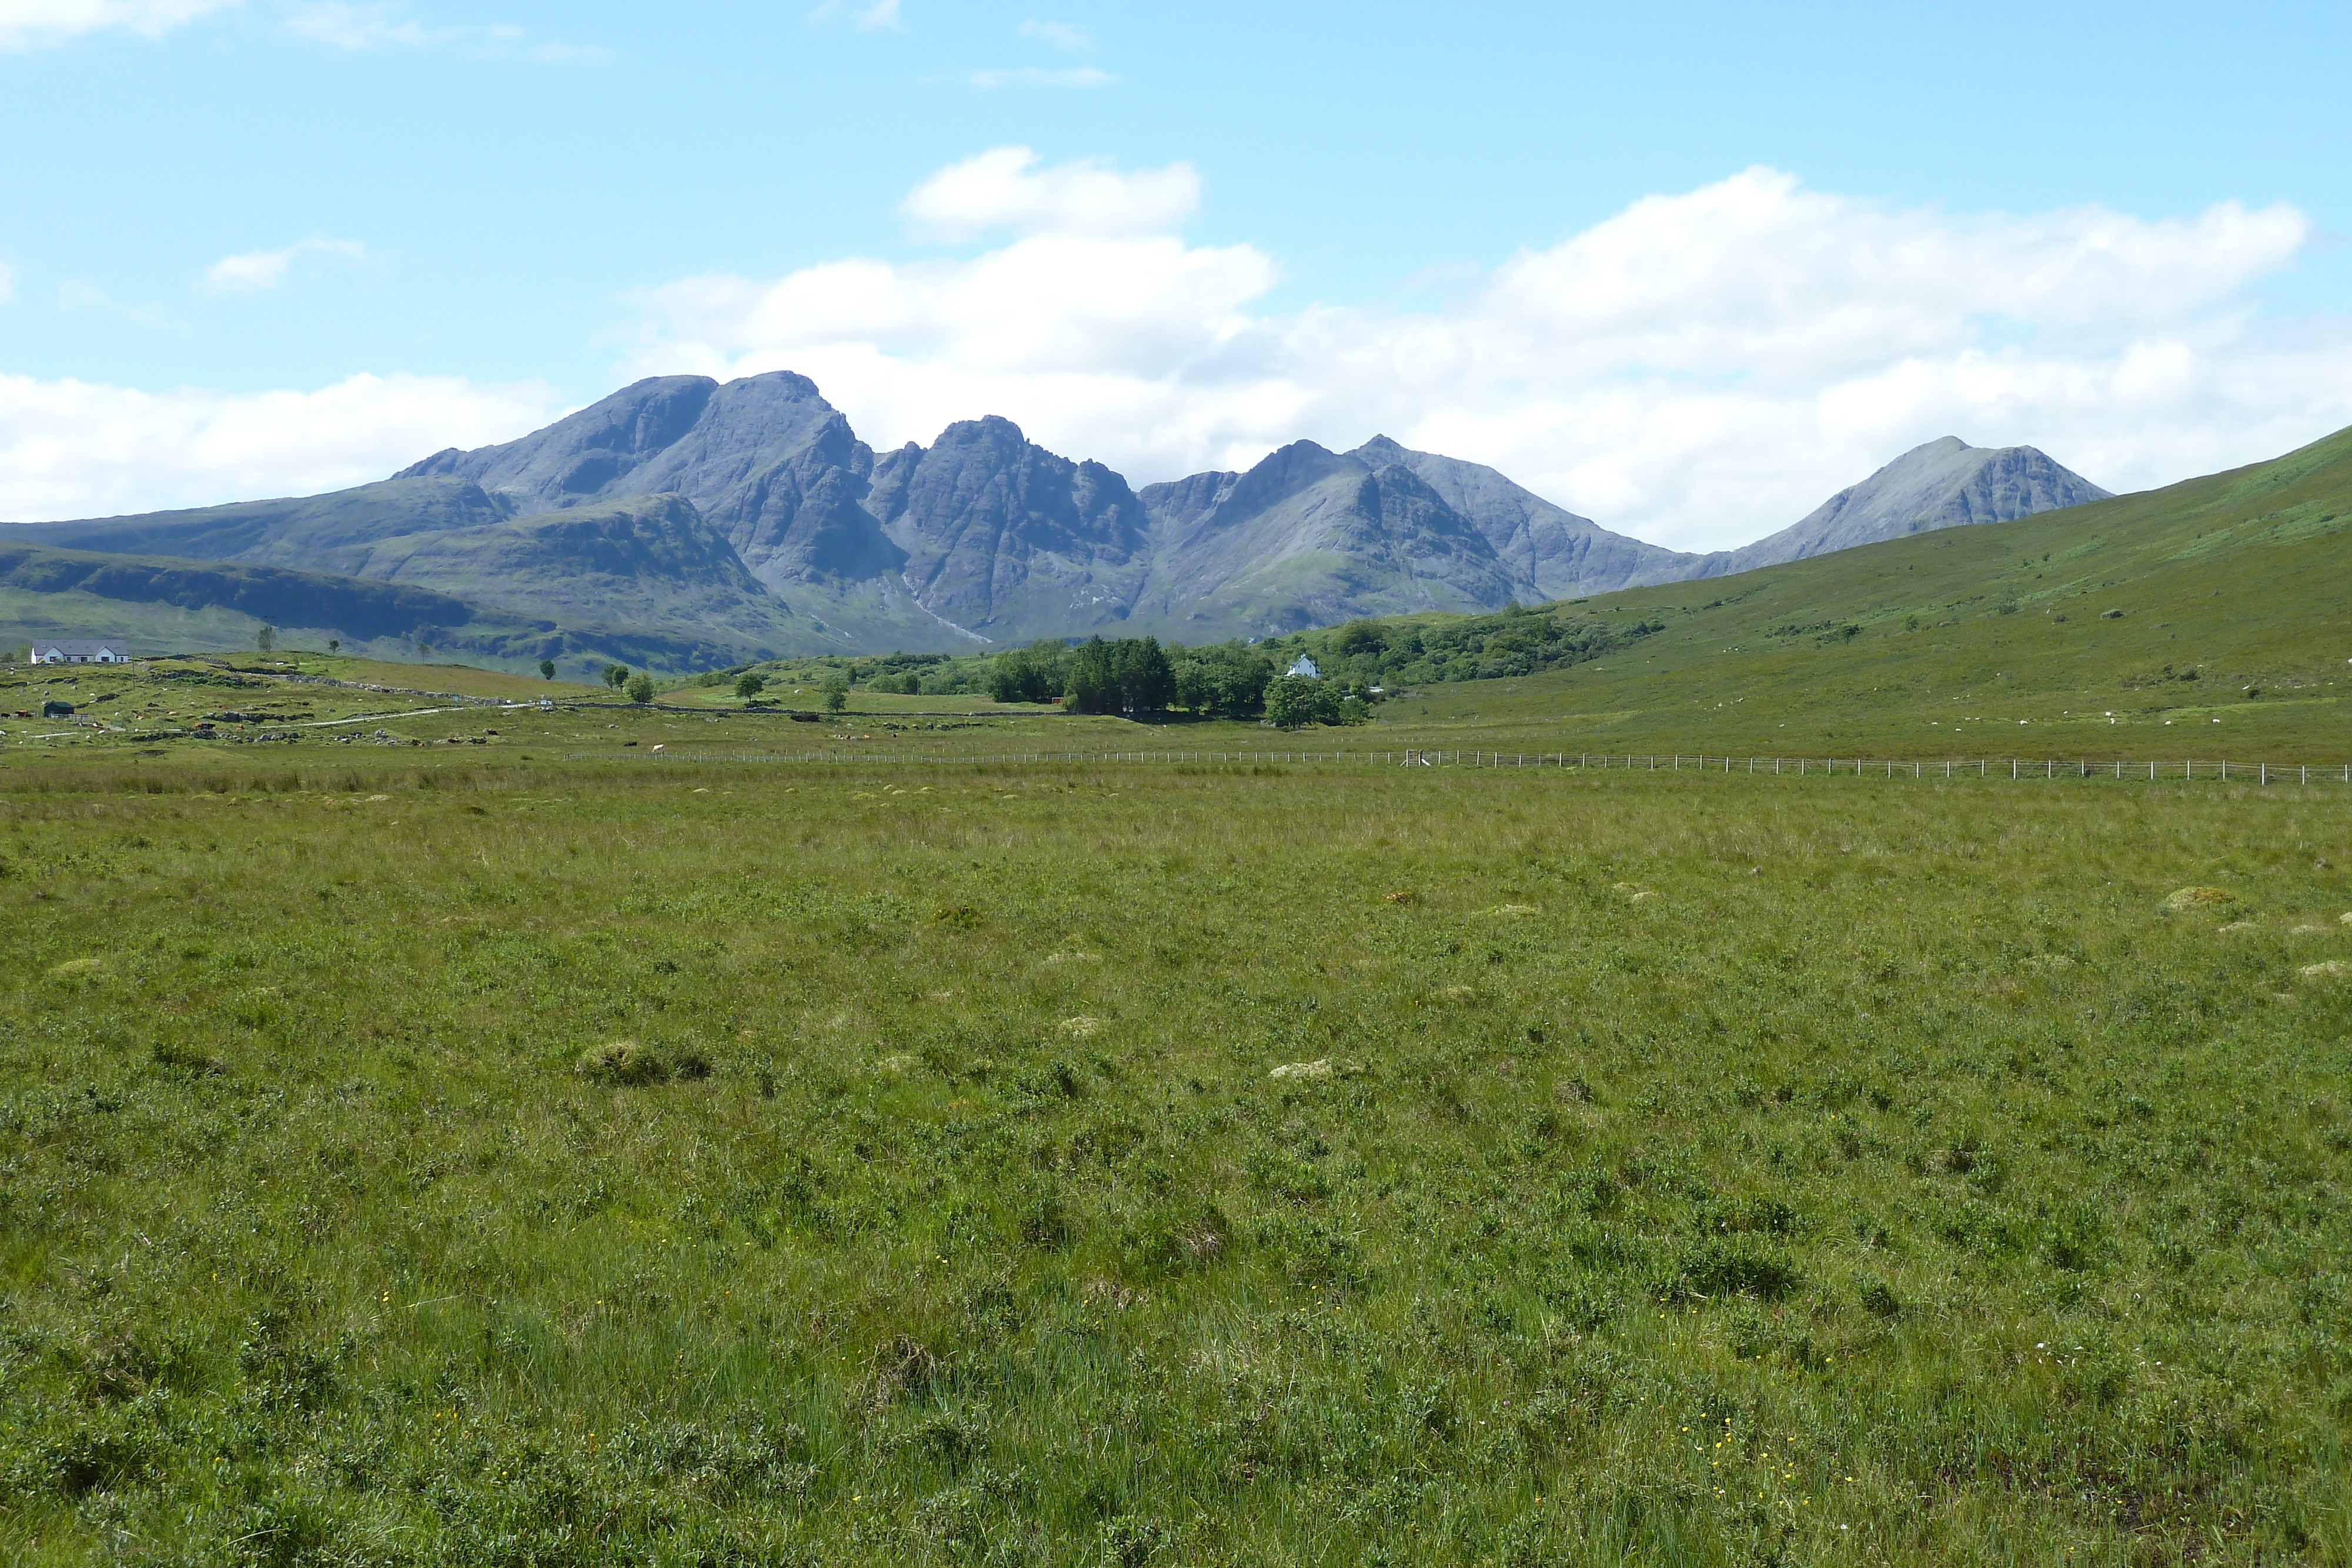
<instances>
[{"instance_id":1,"label":"small puffy white cloud atop the cloud bank above the central peaks","mask_svg":"<svg viewBox=\"0 0 2352 1568\"><path fill-rule=\"evenodd\" d=\"M1200 207L1188 162L1120 174L1103 160L1037 167L1030 148L990 148L953 162L898 209L924 233L969 240L1000 228L1054 235L1171 233Z\"/></svg>"}]
</instances>

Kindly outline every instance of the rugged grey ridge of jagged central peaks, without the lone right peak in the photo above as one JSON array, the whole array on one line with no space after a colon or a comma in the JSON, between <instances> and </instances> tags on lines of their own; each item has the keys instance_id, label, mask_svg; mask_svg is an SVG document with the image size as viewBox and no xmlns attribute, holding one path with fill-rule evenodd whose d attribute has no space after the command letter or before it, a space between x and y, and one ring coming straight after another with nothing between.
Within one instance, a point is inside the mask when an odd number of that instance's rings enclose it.
<instances>
[{"instance_id":1,"label":"rugged grey ridge of jagged central peaks, without the lone right peak","mask_svg":"<svg viewBox=\"0 0 2352 1568\"><path fill-rule=\"evenodd\" d=\"M1247 475L1141 494L995 416L875 454L790 371L640 381L517 442L440 451L400 477L466 477L520 512L670 489L771 592L858 644L1263 635L1604 592L1691 576L1700 559L1388 437L1350 454L1294 442Z\"/></svg>"}]
</instances>

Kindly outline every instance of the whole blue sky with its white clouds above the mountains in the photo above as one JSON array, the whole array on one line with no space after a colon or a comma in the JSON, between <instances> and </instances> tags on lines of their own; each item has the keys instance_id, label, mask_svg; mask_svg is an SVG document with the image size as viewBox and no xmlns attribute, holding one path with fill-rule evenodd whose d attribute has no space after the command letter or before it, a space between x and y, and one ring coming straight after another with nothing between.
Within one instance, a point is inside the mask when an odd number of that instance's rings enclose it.
<instances>
[{"instance_id":1,"label":"whole blue sky with its white clouds above the mountains","mask_svg":"<svg viewBox=\"0 0 2352 1568\"><path fill-rule=\"evenodd\" d=\"M1962 416L2161 482L2352 418L2347 45L2340 5L0 0L0 515L348 482L642 371L771 364L826 367L873 440L1007 411L1138 482L1451 437L1670 543L1780 527ZM1009 148L969 223L910 209ZM1094 197L1040 183L1070 169ZM1630 317L1552 310L1618 242L1715 261ZM2119 256L2136 303L2037 292L2072 266L2037 244ZM1830 320L1922 247L1947 259ZM1860 252L1886 266L1839 275ZM828 292L851 259L901 301L880 327L870 287ZM990 289L1131 266L1160 284L1021 317L1061 357L976 339ZM2018 303L1971 292L1987 268ZM1922 324L1938 289L1969 299ZM1677 357L1661 313L1715 346ZM1889 376L1947 390L1858 418Z\"/></svg>"}]
</instances>

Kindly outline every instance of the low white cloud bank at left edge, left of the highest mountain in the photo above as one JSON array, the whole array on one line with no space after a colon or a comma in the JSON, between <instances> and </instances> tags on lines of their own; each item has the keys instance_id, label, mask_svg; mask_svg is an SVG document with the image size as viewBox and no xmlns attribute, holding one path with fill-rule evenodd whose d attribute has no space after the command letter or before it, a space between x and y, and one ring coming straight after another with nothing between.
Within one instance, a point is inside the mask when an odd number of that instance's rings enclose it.
<instances>
[{"instance_id":1,"label":"low white cloud bank at left edge, left of the highest mountain","mask_svg":"<svg viewBox=\"0 0 2352 1568\"><path fill-rule=\"evenodd\" d=\"M350 376L315 393L139 393L0 374L0 517L49 522L306 496L560 414L543 386Z\"/></svg>"}]
</instances>

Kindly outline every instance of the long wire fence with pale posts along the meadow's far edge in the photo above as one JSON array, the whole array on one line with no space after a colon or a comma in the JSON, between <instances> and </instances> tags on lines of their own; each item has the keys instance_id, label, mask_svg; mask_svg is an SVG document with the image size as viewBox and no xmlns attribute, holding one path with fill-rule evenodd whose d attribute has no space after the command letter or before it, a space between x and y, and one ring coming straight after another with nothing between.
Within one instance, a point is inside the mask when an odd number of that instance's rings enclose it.
<instances>
[{"instance_id":1,"label":"long wire fence with pale posts along the meadow's far edge","mask_svg":"<svg viewBox=\"0 0 2352 1568\"><path fill-rule=\"evenodd\" d=\"M1649 773L1769 773L1776 778L1910 778L1966 780L2006 778L2058 780L2107 778L2161 783L2216 780L2251 785L2352 785L2352 762L2131 762L2053 759L2053 757L1947 757L1940 762L1896 762L1889 757L1724 757L1670 752L1489 752L1489 750L1385 750L1385 752L1291 752L1291 750L1145 750L1145 752L901 752L901 750L807 750L807 752L567 752L567 762L762 762L762 764L1160 764L1160 766L1406 766L1406 769L1555 769L1555 771L1649 771Z\"/></svg>"}]
</instances>

